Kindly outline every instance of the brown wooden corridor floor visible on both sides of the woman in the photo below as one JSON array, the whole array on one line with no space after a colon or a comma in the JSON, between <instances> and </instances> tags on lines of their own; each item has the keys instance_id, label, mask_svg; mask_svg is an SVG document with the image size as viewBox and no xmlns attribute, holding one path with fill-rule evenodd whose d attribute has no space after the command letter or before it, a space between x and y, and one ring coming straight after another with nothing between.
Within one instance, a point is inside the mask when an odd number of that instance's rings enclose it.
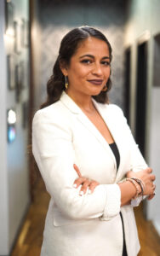
<instances>
[{"instance_id":1,"label":"brown wooden corridor floor visible on both sides of the woman","mask_svg":"<svg viewBox=\"0 0 160 256\"><path fill-rule=\"evenodd\" d=\"M26 221L21 227L11 256L39 256L43 241L44 219L49 204L43 181L37 183L34 191L34 202L26 215ZM135 210L136 221L140 236L141 250L138 256L160 256L160 237L150 221L142 216L140 207ZM53 255L54 256L54 255Z\"/></svg>"}]
</instances>

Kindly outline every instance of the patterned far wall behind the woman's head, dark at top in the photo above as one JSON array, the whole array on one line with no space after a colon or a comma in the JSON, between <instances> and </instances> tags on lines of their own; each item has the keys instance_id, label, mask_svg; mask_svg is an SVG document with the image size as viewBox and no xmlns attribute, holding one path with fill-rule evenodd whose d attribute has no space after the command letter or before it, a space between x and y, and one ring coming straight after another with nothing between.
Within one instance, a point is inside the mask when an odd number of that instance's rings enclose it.
<instances>
[{"instance_id":1,"label":"patterned far wall behind the woman's head, dark at top","mask_svg":"<svg viewBox=\"0 0 160 256\"><path fill-rule=\"evenodd\" d=\"M39 90L40 103L46 97L46 83L52 73L60 40L76 26L94 26L104 32L113 49L111 65L111 102L123 107L123 69L124 69L124 23L126 1L48 1L39 2L39 22L41 27L41 76Z\"/></svg>"}]
</instances>

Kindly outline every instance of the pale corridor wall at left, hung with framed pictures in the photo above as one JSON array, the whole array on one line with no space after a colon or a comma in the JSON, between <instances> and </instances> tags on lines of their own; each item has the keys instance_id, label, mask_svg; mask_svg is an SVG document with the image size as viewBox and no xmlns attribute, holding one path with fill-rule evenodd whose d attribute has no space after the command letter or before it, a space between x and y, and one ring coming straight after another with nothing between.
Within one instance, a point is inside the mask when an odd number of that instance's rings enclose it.
<instances>
[{"instance_id":1,"label":"pale corridor wall at left, hung with framed pictures","mask_svg":"<svg viewBox=\"0 0 160 256\"><path fill-rule=\"evenodd\" d=\"M12 0L14 4L14 20L29 19L28 0ZM26 213L30 201L29 171L27 166L28 131L22 127L22 104L28 101L29 73L23 79L26 87L22 90L20 102L15 101L15 90L9 90L7 84L7 55L14 54L15 63L29 60L29 49L21 49L20 55L14 53L14 37L4 35L4 1L0 0L0 255L9 255L14 239L20 228L21 220ZM26 66L25 66L26 68ZM26 71L26 70L25 70ZM7 109L14 108L17 114L16 138L13 143L7 143ZM1 193L2 190L2 193Z\"/></svg>"}]
</instances>

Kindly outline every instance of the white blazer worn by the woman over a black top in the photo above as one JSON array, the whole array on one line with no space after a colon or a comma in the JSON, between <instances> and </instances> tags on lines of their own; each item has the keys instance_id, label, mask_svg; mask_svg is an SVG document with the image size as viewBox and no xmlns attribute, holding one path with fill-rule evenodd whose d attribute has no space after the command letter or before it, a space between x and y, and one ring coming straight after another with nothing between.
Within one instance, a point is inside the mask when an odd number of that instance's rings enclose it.
<instances>
[{"instance_id":1,"label":"white blazer worn by the woman over a black top","mask_svg":"<svg viewBox=\"0 0 160 256\"><path fill-rule=\"evenodd\" d=\"M51 196L43 232L41 256L122 256L123 214L128 256L140 250L133 207L120 207L118 182L126 172L146 168L123 112L116 105L95 108L106 122L120 153L117 170L110 146L93 123L67 96L38 110L32 125L32 150ZM89 195L73 188L79 167L100 183Z\"/></svg>"}]
</instances>

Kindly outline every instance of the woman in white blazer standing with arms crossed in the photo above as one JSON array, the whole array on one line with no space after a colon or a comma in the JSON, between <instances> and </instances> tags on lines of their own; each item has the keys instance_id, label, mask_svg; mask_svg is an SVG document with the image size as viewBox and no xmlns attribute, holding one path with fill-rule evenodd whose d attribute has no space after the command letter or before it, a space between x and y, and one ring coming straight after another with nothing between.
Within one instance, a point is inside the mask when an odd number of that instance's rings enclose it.
<instances>
[{"instance_id":1,"label":"woman in white blazer standing with arms crossed","mask_svg":"<svg viewBox=\"0 0 160 256\"><path fill-rule=\"evenodd\" d=\"M154 196L155 176L122 110L108 102L110 74L111 45L101 32L83 26L66 34L32 127L33 154L51 196L41 256L140 250L132 205Z\"/></svg>"}]
</instances>

